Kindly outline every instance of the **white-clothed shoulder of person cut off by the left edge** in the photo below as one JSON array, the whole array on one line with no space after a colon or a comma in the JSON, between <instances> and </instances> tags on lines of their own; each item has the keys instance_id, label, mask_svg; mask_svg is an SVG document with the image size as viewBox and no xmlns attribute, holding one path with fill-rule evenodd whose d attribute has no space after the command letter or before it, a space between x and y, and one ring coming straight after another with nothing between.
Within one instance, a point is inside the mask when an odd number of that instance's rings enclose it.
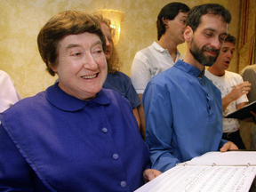
<instances>
[{"instance_id":1,"label":"white-clothed shoulder of person cut off by the left edge","mask_svg":"<svg viewBox=\"0 0 256 192\"><path fill-rule=\"evenodd\" d=\"M0 70L0 88L0 113L2 113L15 102L21 100L21 97L14 86L12 78L2 70Z\"/></svg>"}]
</instances>

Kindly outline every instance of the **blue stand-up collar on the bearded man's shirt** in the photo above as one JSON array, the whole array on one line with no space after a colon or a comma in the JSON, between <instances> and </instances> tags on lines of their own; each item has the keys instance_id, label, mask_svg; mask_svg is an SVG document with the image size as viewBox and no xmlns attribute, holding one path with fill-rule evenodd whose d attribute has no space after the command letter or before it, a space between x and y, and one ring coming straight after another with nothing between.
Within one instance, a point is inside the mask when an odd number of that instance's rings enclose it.
<instances>
[{"instance_id":1,"label":"blue stand-up collar on the bearded man's shirt","mask_svg":"<svg viewBox=\"0 0 256 192\"><path fill-rule=\"evenodd\" d=\"M201 70L199 68L189 65L187 62L184 62L183 60L178 60L173 67L179 68L180 70L190 74L191 76L198 77L201 73ZM204 70L202 71L202 77L203 76Z\"/></svg>"}]
</instances>

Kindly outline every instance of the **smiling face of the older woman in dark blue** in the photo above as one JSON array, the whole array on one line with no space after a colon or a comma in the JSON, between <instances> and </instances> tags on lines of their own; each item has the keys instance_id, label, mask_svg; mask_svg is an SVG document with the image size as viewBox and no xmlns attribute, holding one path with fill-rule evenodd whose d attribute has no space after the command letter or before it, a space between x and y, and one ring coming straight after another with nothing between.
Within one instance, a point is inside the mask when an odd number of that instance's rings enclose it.
<instances>
[{"instance_id":1,"label":"smiling face of the older woman in dark blue","mask_svg":"<svg viewBox=\"0 0 256 192\"><path fill-rule=\"evenodd\" d=\"M107 76L107 61L100 37L83 33L60 40L56 67L60 89L80 99L91 100Z\"/></svg>"}]
</instances>

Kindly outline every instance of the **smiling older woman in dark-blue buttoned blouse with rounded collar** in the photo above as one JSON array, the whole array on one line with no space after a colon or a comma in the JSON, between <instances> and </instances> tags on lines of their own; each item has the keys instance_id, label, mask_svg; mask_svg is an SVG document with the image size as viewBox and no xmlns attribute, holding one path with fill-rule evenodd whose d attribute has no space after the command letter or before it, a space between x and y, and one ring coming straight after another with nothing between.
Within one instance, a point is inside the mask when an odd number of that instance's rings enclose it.
<instances>
[{"instance_id":1,"label":"smiling older woman in dark-blue buttoned blouse with rounded collar","mask_svg":"<svg viewBox=\"0 0 256 192\"><path fill-rule=\"evenodd\" d=\"M0 116L0 191L133 191L159 172L131 105L101 89L107 76L100 24L83 12L60 12L37 43L59 76L45 92Z\"/></svg>"}]
</instances>

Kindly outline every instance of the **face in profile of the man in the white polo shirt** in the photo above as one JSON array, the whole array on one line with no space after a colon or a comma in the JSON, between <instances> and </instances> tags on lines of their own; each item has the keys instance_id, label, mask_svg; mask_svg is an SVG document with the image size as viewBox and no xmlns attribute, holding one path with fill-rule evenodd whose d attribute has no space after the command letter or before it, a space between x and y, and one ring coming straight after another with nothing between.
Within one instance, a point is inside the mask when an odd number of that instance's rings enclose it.
<instances>
[{"instance_id":1,"label":"face in profile of the man in the white polo shirt","mask_svg":"<svg viewBox=\"0 0 256 192\"><path fill-rule=\"evenodd\" d=\"M188 12L179 12L174 20L167 20L166 32L177 44L185 42L183 33L186 28L187 17Z\"/></svg>"}]
</instances>

